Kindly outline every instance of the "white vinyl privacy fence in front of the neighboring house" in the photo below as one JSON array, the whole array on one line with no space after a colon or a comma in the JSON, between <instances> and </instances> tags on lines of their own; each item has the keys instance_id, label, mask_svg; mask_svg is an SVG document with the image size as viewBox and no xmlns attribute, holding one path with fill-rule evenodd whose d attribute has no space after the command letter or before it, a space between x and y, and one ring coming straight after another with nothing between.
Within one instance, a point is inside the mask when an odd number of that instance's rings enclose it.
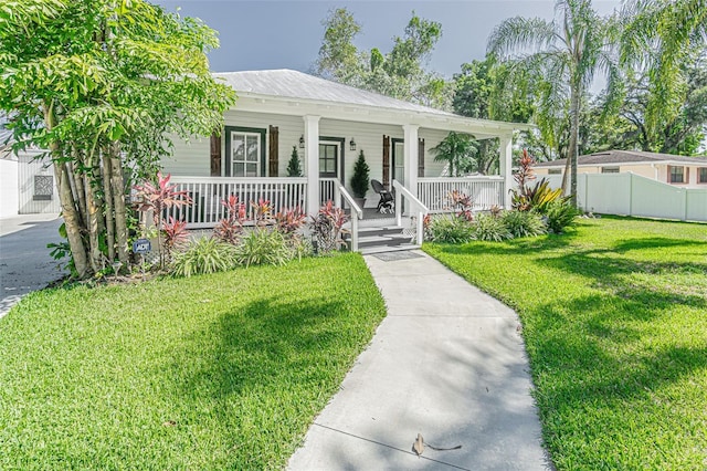
<instances>
[{"instance_id":1,"label":"white vinyl privacy fence in front of the neighboring house","mask_svg":"<svg viewBox=\"0 0 707 471\"><path fill-rule=\"evenodd\" d=\"M552 188L562 185L561 175L546 178ZM584 211L603 214L707 221L707 188L679 188L631 172L579 174L577 201Z\"/></svg>"}]
</instances>

